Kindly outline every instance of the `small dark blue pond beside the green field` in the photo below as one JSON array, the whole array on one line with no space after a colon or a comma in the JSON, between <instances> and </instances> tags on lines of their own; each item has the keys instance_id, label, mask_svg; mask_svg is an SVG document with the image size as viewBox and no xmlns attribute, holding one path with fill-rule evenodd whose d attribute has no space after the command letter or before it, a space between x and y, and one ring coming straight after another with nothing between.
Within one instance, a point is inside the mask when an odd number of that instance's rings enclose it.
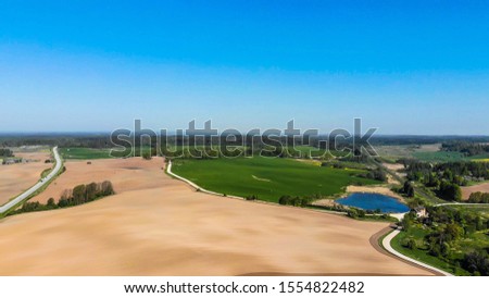
<instances>
[{"instance_id":1,"label":"small dark blue pond beside the green field","mask_svg":"<svg viewBox=\"0 0 489 298\"><path fill-rule=\"evenodd\" d=\"M410 211L408 206L401 203L396 198L378 194L354 193L337 200L337 202L364 210L380 209L384 213L403 213Z\"/></svg>"}]
</instances>

